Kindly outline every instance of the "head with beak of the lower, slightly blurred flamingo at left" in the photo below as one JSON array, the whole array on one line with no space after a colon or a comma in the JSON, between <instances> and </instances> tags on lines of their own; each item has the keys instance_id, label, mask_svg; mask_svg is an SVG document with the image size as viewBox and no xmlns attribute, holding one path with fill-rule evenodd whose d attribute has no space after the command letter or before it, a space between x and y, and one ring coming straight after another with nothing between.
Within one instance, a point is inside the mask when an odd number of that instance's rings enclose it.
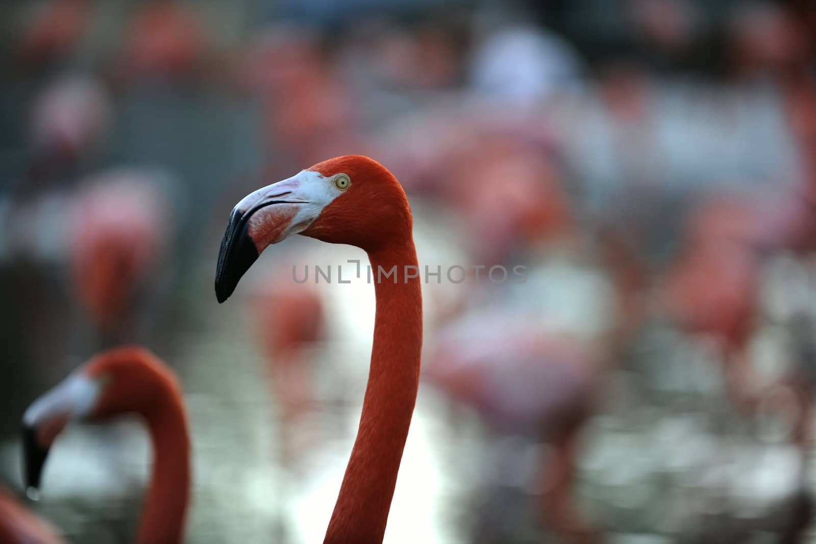
<instances>
[{"instance_id":1,"label":"head with beak of the lower, slightly blurred flamingo at left","mask_svg":"<svg viewBox=\"0 0 816 544\"><path fill-rule=\"evenodd\" d=\"M171 371L140 347L101 353L35 400L23 415L24 480L38 489L51 444L72 421L100 422L118 414L145 418L164 405L157 385L178 391Z\"/></svg>"}]
</instances>

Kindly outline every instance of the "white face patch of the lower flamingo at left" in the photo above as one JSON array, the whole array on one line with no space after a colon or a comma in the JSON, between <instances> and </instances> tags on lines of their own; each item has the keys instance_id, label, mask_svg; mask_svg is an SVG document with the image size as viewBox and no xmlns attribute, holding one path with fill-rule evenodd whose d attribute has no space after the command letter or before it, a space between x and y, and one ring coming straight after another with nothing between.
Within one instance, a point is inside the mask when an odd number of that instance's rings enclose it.
<instances>
[{"instance_id":1,"label":"white face patch of the lower flamingo at left","mask_svg":"<svg viewBox=\"0 0 816 544\"><path fill-rule=\"evenodd\" d=\"M94 409L100 391L99 380L79 372L70 374L25 410L23 423L26 427L36 427L60 415L68 415L72 419L84 418Z\"/></svg>"}]
</instances>

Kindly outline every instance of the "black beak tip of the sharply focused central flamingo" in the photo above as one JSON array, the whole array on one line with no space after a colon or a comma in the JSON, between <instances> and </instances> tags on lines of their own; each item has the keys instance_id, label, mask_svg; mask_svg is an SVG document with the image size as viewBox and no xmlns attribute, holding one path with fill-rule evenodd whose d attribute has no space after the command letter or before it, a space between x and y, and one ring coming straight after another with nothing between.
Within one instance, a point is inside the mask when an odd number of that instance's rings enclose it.
<instances>
[{"instance_id":1,"label":"black beak tip of the sharply focused central flamingo","mask_svg":"<svg viewBox=\"0 0 816 544\"><path fill-rule=\"evenodd\" d=\"M242 213L236 207L229 215L227 230L218 252L218 266L215 268L215 297L219 303L233 294L238 281L258 259L258 249L249 235L252 211Z\"/></svg>"}]
</instances>

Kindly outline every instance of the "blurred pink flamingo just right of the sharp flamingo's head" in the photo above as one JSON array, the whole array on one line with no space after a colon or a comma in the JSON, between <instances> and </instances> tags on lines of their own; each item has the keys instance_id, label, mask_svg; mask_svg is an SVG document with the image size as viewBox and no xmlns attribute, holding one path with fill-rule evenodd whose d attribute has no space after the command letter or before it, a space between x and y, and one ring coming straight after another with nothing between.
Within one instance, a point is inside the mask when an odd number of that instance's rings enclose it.
<instances>
[{"instance_id":1,"label":"blurred pink flamingo just right of the sharp flamingo's head","mask_svg":"<svg viewBox=\"0 0 816 544\"><path fill-rule=\"evenodd\" d=\"M379 146L400 150L393 161L412 192L461 214L475 263L574 241L576 218L548 135L461 104L434 113L395 123Z\"/></svg>"}]
</instances>

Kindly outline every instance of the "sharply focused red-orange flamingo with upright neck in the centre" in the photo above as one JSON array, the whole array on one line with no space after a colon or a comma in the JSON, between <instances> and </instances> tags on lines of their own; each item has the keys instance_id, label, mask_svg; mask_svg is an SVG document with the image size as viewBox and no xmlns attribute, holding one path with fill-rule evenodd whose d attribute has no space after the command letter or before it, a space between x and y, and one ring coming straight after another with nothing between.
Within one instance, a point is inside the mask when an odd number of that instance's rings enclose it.
<instances>
[{"instance_id":1,"label":"sharply focused red-orange flamingo with upright neck in the centre","mask_svg":"<svg viewBox=\"0 0 816 544\"><path fill-rule=\"evenodd\" d=\"M351 155L319 162L244 197L221 242L215 272L220 303L268 245L293 234L357 245L375 271L368 385L324 542L383 541L419 389L422 294L419 274L413 273L412 226L397 179L369 157ZM384 277L388 272L395 276Z\"/></svg>"}]
</instances>

